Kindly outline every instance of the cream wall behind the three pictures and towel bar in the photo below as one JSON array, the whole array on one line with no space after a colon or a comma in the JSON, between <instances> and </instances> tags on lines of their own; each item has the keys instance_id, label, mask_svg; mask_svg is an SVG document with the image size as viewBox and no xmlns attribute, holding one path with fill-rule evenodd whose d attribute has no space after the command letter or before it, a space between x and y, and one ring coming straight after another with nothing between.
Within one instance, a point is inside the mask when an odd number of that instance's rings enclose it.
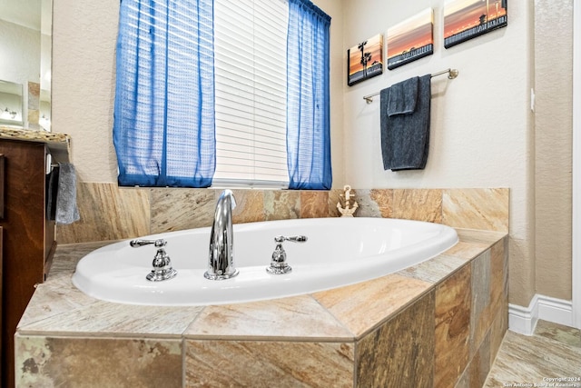
<instances>
[{"instance_id":1,"label":"cream wall behind the three pictures and towel bar","mask_svg":"<svg viewBox=\"0 0 581 388\"><path fill-rule=\"evenodd\" d=\"M527 0L511 0L507 28L443 47L442 0L428 2L346 0L344 48L391 25L434 10L434 55L358 85L344 84L346 180L366 187L510 188L510 302L528 305L535 290L534 117L532 13ZM345 55L346 56L346 53ZM345 60L345 58L344 58ZM432 80L428 165L423 171L383 171L379 147L379 99L363 95L415 75L458 68L455 80Z\"/></svg>"}]
</instances>

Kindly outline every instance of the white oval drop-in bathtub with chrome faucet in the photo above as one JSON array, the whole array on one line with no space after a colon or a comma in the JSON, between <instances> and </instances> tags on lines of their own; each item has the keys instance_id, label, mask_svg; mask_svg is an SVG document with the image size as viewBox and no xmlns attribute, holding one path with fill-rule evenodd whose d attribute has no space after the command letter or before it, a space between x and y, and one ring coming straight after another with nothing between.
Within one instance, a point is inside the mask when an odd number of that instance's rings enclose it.
<instances>
[{"instance_id":1,"label":"white oval drop-in bathtub with chrome faucet","mask_svg":"<svg viewBox=\"0 0 581 388\"><path fill-rule=\"evenodd\" d=\"M268 274L277 235L302 234L306 243L284 243L289 274ZM115 303L207 305L241 303L313 293L397 272L434 257L458 242L441 224L386 218L311 218L234 225L234 264L240 274L208 280L210 228L153 234L178 271L150 282L153 245L110 244L84 256L73 284L94 298Z\"/></svg>"}]
</instances>

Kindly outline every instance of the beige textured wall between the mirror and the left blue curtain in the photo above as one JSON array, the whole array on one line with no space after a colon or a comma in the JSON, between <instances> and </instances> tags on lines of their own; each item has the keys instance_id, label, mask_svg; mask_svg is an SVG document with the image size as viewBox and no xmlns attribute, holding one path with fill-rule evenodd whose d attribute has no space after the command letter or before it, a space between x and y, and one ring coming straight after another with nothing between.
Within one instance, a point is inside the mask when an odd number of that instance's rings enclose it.
<instances>
[{"instance_id":1,"label":"beige textured wall between the mirror and the left blue curtain","mask_svg":"<svg viewBox=\"0 0 581 388\"><path fill-rule=\"evenodd\" d=\"M118 15L117 0L53 2L53 131L72 136L72 159L86 182L116 182L112 128Z\"/></svg>"}]
</instances>

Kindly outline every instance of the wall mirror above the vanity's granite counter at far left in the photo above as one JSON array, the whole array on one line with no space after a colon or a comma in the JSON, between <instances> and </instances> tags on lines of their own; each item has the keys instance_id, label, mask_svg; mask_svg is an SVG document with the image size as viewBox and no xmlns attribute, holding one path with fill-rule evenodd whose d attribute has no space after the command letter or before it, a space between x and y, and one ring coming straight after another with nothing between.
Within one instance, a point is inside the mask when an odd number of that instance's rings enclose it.
<instances>
[{"instance_id":1,"label":"wall mirror above the vanity's granite counter at far left","mask_svg":"<svg viewBox=\"0 0 581 388\"><path fill-rule=\"evenodd\" d=\"M52 11L52 0L0 0L2 125L50 131Z\"/></svg>"}]
</instances>

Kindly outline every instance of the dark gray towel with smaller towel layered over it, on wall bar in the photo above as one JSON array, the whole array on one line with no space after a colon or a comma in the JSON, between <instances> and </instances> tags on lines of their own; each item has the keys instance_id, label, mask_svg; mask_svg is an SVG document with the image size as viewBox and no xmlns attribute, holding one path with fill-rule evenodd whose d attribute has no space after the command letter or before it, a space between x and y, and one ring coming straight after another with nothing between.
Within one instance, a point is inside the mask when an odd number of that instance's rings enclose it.
<instances>
[{"instance_id":1,"label":"dark gray towel with smaller towel layered over it, on wall bar","mask_svg":"<svg viewBox=\"0 0 581 388\"><path fill-rule=\"evenodd\" d=\"M383 89L379 94L381 155L385 170L421 170L428 161L431 75L415 78L418 82L413 112L406 109L413 90L405 90L414 87L413 78ZM392 88L396 92L393 98ZM389 114L390 106L395 107L392 114ZM397 113L398 106L401 113Z\"/></svg>"}]
</instances>

